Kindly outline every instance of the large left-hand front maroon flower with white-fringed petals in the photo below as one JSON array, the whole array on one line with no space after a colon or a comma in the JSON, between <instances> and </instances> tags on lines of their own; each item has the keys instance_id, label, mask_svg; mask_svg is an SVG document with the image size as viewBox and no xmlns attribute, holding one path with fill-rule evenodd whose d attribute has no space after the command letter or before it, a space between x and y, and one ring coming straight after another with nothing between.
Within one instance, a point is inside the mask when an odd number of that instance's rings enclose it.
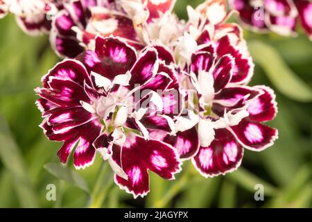
<instances>
[{"instance_id":1,"label":"large left-hand front maroon flower with white-fringed petals","mask_svg":"<svg viewBox=\"0 0 312 222\"><path fill-rule=\"evenodd\" d=\"M157 49L147 47L137 58L119 37L98 36L94 51L55 65L35 92L44 133L64 142L60 162L74 150L74 166L85 169L98 151L115 172L116 184L135 198L149 191L148 170L173 179L181 164L175 148L151 139L148 130L171 132L180 105L169 93L179 93L174 72Z\"/></svg>"}]
</instances>

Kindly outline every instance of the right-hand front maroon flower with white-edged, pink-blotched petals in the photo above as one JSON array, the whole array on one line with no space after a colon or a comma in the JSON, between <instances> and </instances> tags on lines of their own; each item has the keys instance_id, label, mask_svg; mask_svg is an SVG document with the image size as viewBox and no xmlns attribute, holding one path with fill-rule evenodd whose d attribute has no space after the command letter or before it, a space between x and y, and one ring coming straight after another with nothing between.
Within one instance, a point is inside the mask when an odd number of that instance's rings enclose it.
<instances>
[{"instance_id":1,"label":"right-hand front maroon flower with white-edged, pink-blotched petals","mask_svg":"<svg viewBox=\"0 0 312 222\"><path fill-rule=\"evenodd\" d=\"M182 89L189 89L187 117L175 117L175 137L153 133L177 148L182 160L191 159L206 178L239 167L243 147L262 151L277 139L277 130L262 124L277 113L274 92L242 85L247 83L243 78L236 82L234 71L235 60L229 54L218 58L208 51L193 53L181 82Z\"/></svg>"}]
</instances>

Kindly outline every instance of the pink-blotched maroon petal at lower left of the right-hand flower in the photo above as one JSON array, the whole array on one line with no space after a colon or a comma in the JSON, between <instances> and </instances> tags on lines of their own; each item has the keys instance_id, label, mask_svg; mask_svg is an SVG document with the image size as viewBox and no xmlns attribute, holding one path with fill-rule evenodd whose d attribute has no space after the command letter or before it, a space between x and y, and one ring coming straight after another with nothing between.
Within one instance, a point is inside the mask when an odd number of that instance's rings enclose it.
<instances>
[{"instance_id":1,"label":"pink-blotched maroon petal at lower left of the right-hand flower","mask_svg":"<svg viewBox=\"0 0 312 222\"><path fill-rule=\"evenodd\" d=\"M177 132L176 136L168 135L163 141L176 148L182 160L189 160L191 157L194 157L200 147L195 127L183 132Z\"/></svg>"}]
</instances>

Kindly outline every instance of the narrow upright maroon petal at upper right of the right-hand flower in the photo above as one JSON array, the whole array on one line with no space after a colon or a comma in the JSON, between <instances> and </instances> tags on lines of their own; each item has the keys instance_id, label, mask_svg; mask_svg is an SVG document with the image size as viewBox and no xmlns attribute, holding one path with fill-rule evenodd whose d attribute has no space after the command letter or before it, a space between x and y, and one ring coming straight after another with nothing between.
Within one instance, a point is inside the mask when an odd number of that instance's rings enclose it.
<instances>
[{"instance_id":1,"label":"narrow upright maroon petal at upper right of the right-hand flower","mask_svg":"<svg viewBox=\"0 0 312 222\"><path fill-rule=\"evenodd\" d=\"M233 66L233 58L229 55L222 56L218 62L216 62L216 66L212 72L212 75L214 76L215 92L220 91L220 89L223 89L227 83L229 83L229 80L232 78Z\"/></svg>"}]
</instances>

